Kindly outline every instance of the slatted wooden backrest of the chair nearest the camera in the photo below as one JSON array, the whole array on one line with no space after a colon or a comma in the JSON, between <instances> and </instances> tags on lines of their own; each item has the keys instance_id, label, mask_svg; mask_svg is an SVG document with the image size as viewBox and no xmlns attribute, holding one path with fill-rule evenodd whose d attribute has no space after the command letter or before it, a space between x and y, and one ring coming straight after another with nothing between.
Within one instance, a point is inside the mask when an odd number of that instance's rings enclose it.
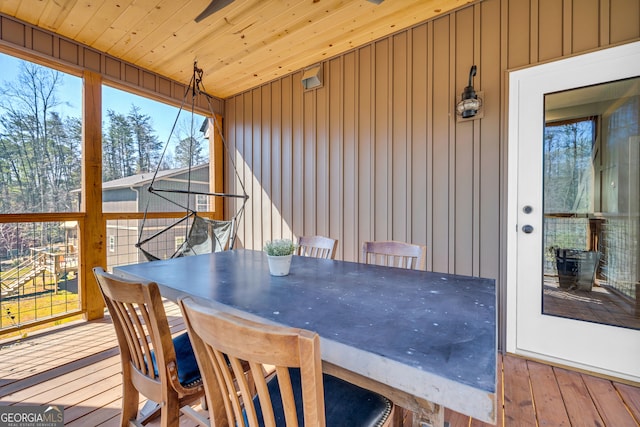
<instances>
[{"instance_id":1,"label":"slatted wooden backrest of the chair nearest the camera","mask_svg":"<svg viewBox=\"0 0 640 427\"><path fill-rule=\"evenodd\" d=\"M300 415L296 410L290 368L300 370L305 425L326 424L317 334L253 322L203 307L190 299L181 299L179 304L207 393L227 399L225 416L210 406L212 425L222 425L224 418L224 423L232 426L246 426L248 422L248 427L257 427L259 421L266 427L275 426L278 417L272 406L274 383L265 380L264 365L275 368L273 375L277 378L287 426L297 426ZM251 369L245 372L243 366L247 363ZM251 384L254 384L259 408L252 399ZM244 414L239 413L239 403L235 400L238 395Z\"/></svg>"}]
</instances>

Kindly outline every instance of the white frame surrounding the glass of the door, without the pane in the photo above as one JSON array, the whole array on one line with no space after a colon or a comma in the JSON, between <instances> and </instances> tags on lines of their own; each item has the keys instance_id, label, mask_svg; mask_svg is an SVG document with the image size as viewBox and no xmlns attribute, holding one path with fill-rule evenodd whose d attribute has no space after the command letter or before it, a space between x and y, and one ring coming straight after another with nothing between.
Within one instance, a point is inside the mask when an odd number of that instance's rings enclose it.
<instances>
[{"instance_id":1,"label":"white frame surrounding the glass of the door, without the pane","mask_svg":"<svg viewBox=\"0 0 640 427\"><path fill-rule=\"evenodd\" d=\"M542 314L542 141L545 93L639 74L635 42L512 71L508 82L507 351L635 382L640 331ZM519 232L525 224L533 232Z\"/></svg>"}]
</instances>

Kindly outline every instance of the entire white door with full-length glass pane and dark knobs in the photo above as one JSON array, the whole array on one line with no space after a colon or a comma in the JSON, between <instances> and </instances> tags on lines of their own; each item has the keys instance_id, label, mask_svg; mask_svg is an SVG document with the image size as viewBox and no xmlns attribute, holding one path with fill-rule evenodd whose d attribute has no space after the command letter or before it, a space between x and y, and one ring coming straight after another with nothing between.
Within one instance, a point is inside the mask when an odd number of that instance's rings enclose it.
<instances>
[{"instance_id":1,"label":"entire white door with full-length glass pane and dark knobs","mask_svg":"<svg viewBox=\"0 0 640 427\"><path fill-rule=\"evenodd\" d=\"M633 381L638 63L634 43L515 71L509 83L507 349Z\"/></svg>"}]
</instances>

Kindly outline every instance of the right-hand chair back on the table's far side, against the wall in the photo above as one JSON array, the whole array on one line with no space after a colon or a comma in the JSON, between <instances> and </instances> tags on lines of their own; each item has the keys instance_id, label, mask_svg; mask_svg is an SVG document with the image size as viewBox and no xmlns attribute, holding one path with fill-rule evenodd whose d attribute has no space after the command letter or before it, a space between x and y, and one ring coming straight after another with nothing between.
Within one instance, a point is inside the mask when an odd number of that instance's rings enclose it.
<instances>
[{"instance_id":1,"label":"right-hand chair back on the table's far side, against the wall","mask_svg":"<svg viewBox=\"0 0 640 427\"><path fill-rule=\"evenodd\" d=\"M394 240L363 242L362 262L364 264L425 270L427 247Z\"/></svg>"}]
</instances>

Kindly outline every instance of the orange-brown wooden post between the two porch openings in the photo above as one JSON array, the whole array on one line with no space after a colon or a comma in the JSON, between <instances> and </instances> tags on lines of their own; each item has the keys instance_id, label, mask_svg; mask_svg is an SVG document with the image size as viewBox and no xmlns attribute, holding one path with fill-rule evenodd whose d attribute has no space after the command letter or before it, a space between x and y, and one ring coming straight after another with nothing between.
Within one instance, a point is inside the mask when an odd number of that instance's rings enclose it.
<instances>
[{"instance_id":1,"label":"orange-brown wooden post between the two porch openings","mask_svg":"<svg viewBox=\"0 0 640 427\"><path fill-rule=\"evenodd\" d=\"M78 281L86 320L104 317L104 302L92 268L106 268L106 224L102 216L102 77L83 73L82 92L82 202Z\"/></svg>"}]
</instances>

